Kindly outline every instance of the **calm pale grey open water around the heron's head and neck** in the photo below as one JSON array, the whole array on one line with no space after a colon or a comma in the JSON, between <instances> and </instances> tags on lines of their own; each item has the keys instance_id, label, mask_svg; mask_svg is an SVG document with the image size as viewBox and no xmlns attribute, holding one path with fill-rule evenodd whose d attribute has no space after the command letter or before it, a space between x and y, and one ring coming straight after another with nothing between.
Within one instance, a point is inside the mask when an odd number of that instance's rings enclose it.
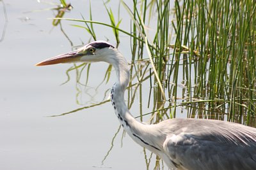
<instances>
[{"instance_id":1,"label":"calm pale grey open water around the heron's head and neck","mask_svg":"<svg viewBox=\"0 0 256 170\"><path fill-rule=\"evenodd\" d=\"M146 169L143 148L128 136L124 138L121 148L122 132L118 134L104 165L99 167L118 129L111 104L64 117L48 117L81 107L76 103L76 78L71 74L70 82L60 86L67 80L65 71L71 64L34 65L48 57L70 51L71 46L60 27L53 27L52 20L47 19L54 17L51 10L35 11L54 8L54 4L35 0L21 2L4 1L8 24L4 39L0 42L0 169ZM65 17L81 18L81 14L89 17L89 1L70 2L74 10L66 13ZM117 11L116 4L109 6ZM92 9L93 20L108 21L101 0L92 1ZM0 20L2 33L4 13L1 1ZM70 24L74 22L62 22L74 45L81 45L82 41L87 43L90 38L87 32ZM123 18L121 26L129 28L129 24L129 17ZM95 27L95 31L97 39L108 38L115 44L111 29L99 26ZM127 46L129 38L123 36L119 48L122 53L129 53ZM88 86L97 87L102 81L104 73L99 67L106 70L108 66L93 64ZM93 79L93 75L100 80ZM83 94L82 102L101 101L104 91L114 81L115 77L111 76L107 87L103 85L98 92L90 90L91 95L96 94L93 99ZM132 110L138 110L137 106L134 104Z\"/></svg>"}]
</instances>

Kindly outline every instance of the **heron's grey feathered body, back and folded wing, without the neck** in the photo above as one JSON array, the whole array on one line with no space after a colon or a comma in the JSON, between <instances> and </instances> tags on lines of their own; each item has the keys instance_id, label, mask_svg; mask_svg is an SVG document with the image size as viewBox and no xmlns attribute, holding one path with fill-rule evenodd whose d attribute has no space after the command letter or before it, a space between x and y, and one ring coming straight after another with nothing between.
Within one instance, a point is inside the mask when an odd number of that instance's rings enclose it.
<instances>
[{"instance_id":1,"label":"heron's grey feathered body, back and folded wing, without the neck","mask_svg":"<svg viewBox=\"0 0 256 170\"><path fill-rule=\"evenodd\" d=\"M164 151L178 169L256 169L256 129L218 120L173 119Z\"/></svg>"}]
</instances>

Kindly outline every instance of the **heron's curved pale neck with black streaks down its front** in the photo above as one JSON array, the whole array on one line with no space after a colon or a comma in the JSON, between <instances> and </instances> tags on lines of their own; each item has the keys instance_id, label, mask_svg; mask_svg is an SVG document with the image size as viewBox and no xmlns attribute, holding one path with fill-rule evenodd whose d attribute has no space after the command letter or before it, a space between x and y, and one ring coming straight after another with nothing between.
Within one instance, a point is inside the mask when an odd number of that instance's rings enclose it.
<instances>
[{"instance_id":1,"label":"heron's curved pale neck with black streaks down its front","mask_svg":"<svg viewBox=\"0 0 256 170\"><path fill-rule=\"evenodd\" d=\"M150 130L152 129L150 125L144 125L135 120L125 104L124 92L129 83L129 67L127 61L119 52L117 52L116 56L115 60L112 60L111 63L113 67L115 67L117 76L117 81L111 89L111 101L115 109L116 117L118 117L124 130L136 143L157 153L160 151L160 146L155 145L154 141L150 139L150 137L155 134L154 130Z\"/></svg>"}]
</instances>

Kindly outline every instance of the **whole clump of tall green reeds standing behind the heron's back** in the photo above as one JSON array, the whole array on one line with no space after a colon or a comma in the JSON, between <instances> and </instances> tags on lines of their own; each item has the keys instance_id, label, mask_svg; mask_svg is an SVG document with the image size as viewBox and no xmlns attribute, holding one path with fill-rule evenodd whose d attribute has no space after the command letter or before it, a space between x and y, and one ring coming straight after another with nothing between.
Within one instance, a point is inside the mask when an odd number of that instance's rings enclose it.
<instances>
[{"instance_id":1,"label":"whole clump of tall green reeds standing behind the heron's back","mask_svg":"<svg viewBox=\"0 0 256 170\"><path fill-rule=\"evenodd\" d=\"M133 11L126 8L133 32L138 32L132 44L141 52L146 46L146 56L154 61L153 111L160 113L156 122L166 114L164 109L175 117L176 107L182 105L188 117L254 124L256 3L184 0L171 8L167 0L134 1ZM145 21L153 13L157 27L148 41Z\"/></svg>"}]
</instances>

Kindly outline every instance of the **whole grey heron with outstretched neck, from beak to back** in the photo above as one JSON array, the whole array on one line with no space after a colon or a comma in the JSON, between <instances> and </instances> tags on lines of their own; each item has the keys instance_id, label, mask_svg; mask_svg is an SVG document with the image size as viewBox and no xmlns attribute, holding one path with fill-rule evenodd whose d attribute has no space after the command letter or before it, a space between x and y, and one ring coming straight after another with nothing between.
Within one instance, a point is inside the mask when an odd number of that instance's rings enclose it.
<instances>
[{"instance_id":1,"label":"whole grey heron with outstretched neck, from beak to back","mask_svg":"<svg viewBox=\"0 0 256 170\"><path fill-rule=\"evenodd\" d=\"M164 160L170 169L256 169L256 129L220 120L173 118L143 124L132 117L124 101L129 66L106 41L44 60L36 66L67 62L108 62L116 71L111 102L124 130L139 145Z\"/></svg>"}]
</instances>

